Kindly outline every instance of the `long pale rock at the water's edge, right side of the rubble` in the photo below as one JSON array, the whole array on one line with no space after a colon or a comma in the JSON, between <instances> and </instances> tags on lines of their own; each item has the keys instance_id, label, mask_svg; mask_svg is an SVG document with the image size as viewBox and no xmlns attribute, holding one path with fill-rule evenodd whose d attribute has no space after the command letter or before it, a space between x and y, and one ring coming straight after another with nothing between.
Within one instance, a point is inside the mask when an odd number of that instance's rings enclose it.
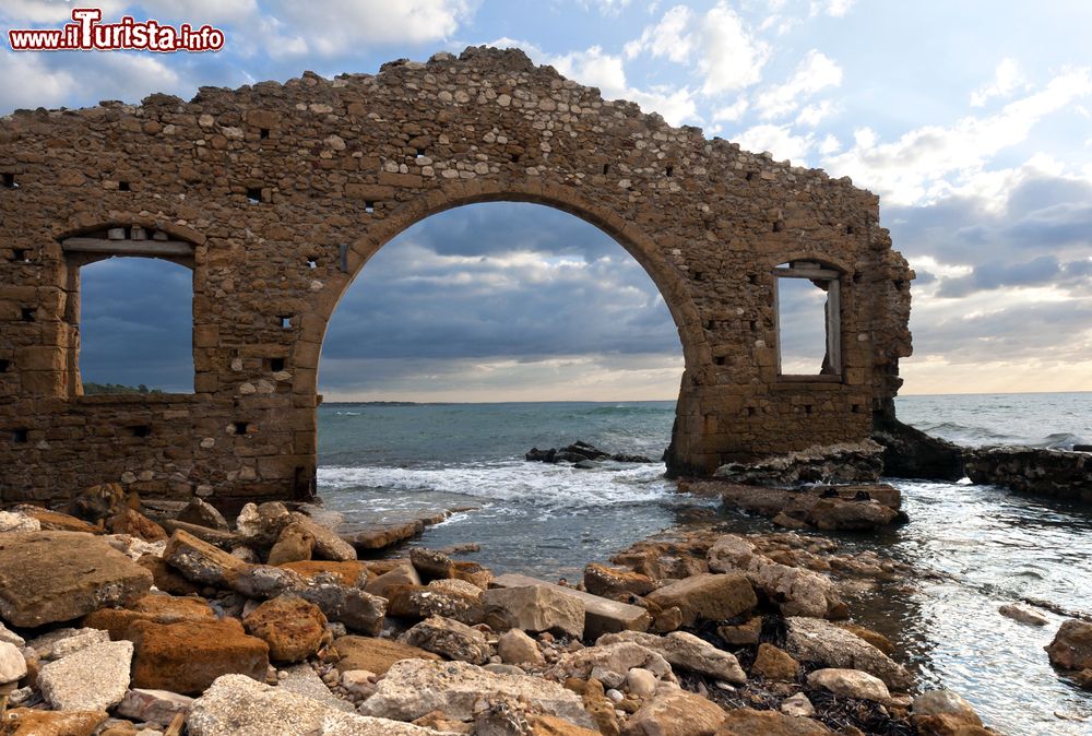
<instances>
[{"instance_id":1,"label":"long pale rock at the water's edge, right side of the rubble","mask_svg":"<svg viewBox=\"0 0 1092 736\"><path fill-rule=\"evenodd\" d=\"M755 550L747 539L726 534L709 550L709 568L743 572L751 584L778 603L785 616L828 618L845 608L834 583L826 575L774 562Z\"/></svg>"}]
</instances>

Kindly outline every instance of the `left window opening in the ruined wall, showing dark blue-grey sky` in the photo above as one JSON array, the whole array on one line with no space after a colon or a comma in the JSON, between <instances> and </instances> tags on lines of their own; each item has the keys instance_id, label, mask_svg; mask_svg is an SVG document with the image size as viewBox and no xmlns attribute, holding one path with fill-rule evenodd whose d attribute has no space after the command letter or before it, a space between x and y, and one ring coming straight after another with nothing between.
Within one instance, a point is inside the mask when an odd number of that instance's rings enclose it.
<instances>
[{"instance_id":1,"label":"left window opening in the ruined wall, showing dark blue-grey sky","mask_svg":"<svg viewBox=\"0 0 1092 736\"><path fill-rule=\"evenodd\" d=\"M193 391L193 272L157 258L80 268L78 395Z\"/></svg>"}]
</instances>

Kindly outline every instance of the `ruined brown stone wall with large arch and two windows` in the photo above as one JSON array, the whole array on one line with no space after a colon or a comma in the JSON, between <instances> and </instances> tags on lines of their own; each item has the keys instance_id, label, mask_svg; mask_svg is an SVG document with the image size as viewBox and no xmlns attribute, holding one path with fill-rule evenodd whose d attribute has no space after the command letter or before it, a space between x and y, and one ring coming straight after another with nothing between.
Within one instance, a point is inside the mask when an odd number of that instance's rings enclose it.
<instances>
[{"instance_id":1,"label":"ruined brown stone wall with large arch and two windows","mask_svg":"<svg viewBox=\"0 0 1092 736\"><path fill-rule=\"evenodd\" d=\"M310 496L340 297L392 237L472 202L565 210L645 268L685 356L675 471L863 439L910 354L913 273L875 195L605 102L519 51L23 110L0 119L0 174L3 501L103 482ZM81 395L79 266L105 254L61 244L134 227L193 270L192 395ZM772 269L798 259L841 272L840 381L778 376Z\"/></svg>"}]
</instances>

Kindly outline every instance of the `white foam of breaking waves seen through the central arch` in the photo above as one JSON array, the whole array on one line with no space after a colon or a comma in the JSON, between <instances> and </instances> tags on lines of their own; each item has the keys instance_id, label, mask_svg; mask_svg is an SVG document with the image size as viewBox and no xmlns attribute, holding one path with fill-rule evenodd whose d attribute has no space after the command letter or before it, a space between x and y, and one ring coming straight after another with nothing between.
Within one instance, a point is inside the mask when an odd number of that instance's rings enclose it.
<instances>
[{"instance_id":1,"label":"white foam of breaking waves seen through the central arch","mask_svg":"<svg viewBox=\"0 0 1092 736\"><path fill-rule=\"evenodd\" d=\"M655 501L674 489L663 477L663 463L608 463L596 470L522 461L448 467L320 467L318 476L320 492L351 488L438 491L567 508Z\"/></svg>"}]
</instances>

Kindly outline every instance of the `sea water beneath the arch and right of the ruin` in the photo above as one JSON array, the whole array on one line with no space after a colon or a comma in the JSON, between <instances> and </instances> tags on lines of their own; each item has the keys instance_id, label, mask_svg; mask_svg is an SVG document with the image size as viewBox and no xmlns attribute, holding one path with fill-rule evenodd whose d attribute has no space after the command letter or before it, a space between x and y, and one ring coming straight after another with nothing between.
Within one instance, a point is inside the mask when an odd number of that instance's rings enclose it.
<instances>
[{"instance_id":1,"label":"sea water beneath the arch and right of the ruin","mask_svg":"<svg viewBox=\"0 0 1092 736\"><path fill-rule=\"evenodd\" d=\"M1092 443L1092 392L904 396L897 408L965 446ZM580 580L587 562L688 524L773 531L664 478L674 412L674 402L323 404L319 495L349 522L460 509L411 544L473 543L479 549L460 559L547 580ZM577 440L656 462L577 470L524 460L533 447ZM892 639L922 689L961 693L986 725L1010 736L1092 735L1092 693L1060 679L1043 651L1065 620L1055 612L1092 615L1092 506L965 479L887 480L903 491L909 523L839 542L915 572L862 592L854 617ZM1036 608L1046 627L998 614L1025 600L1049 604Z\"/></svg>"}]
</instances>

